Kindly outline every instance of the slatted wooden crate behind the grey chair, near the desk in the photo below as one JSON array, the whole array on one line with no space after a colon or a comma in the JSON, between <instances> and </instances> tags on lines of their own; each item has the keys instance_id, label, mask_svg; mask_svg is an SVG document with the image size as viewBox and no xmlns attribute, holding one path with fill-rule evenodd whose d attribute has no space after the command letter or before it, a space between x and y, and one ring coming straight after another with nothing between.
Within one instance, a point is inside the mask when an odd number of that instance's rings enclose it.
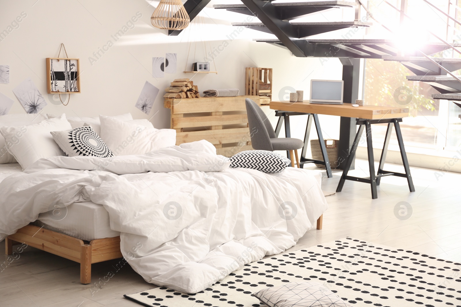
<instances>
[{"instance_id":1,"label":"slatted wooden crate behind the grey chair, near the desk","mask_svg":"<svg viewBox=\"0 0 461 307\"><path fill-rule=\"evenodd\" d=\"M272 100L272 68L247 67L245 94L264 96L261 97L261 104L269 104Z\"/></svg>"}]
</instances>

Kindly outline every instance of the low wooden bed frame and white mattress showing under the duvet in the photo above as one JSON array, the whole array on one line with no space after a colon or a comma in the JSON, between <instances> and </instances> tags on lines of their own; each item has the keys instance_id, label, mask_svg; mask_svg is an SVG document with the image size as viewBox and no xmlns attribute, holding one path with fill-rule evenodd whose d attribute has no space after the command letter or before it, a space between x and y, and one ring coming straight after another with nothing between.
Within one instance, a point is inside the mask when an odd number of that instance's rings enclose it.
<instances>
[{"instance_id":1,"label":"low wooden bed frame and white mattress showing under the duvet","mask_svg":"<svg viewBox=\"0 0 461 307\"><path fill-rule=\"evenodd\" d=\"M22 173L18 163L0 164L0 182ZM25 243L80 263L80 282L91 283L91 264L121 258L120 232L110 228L109 214L93 202L73 203L64 210L39 214L38 220L5 238L5 253Z\"/></svg>"}]
</instances>

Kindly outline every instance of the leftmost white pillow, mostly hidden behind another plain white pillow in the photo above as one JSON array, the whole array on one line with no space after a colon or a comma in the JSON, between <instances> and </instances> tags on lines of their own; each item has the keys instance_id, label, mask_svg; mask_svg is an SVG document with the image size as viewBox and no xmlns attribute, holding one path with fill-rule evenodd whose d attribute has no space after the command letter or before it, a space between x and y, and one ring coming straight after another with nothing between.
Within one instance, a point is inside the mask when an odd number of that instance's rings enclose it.
<instances>
[{"instance_id":1,"label":"leftmost white pillow, mostly hidden behind another plain white pillow","mask_svg":"<svg viewBox=\"0 0 461 307\"><path fill-rule=\"evenodd\" d=\"M47 117L43 114L8 114L0 116L0 127L24 126L34 122L41 122ZM13 143L6 145L5 138L0 134L0 164L17 163L14 156L8 152L8 147L19 142L18 138L12 139Z\"/></svg>"}]
</instances>

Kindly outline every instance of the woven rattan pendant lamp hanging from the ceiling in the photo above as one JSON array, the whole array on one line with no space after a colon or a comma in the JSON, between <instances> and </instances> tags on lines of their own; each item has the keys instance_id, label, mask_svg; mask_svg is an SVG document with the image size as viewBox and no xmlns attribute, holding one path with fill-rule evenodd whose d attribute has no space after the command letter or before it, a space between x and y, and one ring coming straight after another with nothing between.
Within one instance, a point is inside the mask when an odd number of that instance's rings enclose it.
<instances>
[{"instance_id":1,"label":"woven rattan pendant lamp hanging from the ceiling","mask_svg":"<svg viewBox=\"0 0 461 307\"><path fill-rule=\"evenodd\" d=\"M155 28L182 30L187 28L190 18L181 0L160 0L150 21Z\"/></svg>"}]
</instances>

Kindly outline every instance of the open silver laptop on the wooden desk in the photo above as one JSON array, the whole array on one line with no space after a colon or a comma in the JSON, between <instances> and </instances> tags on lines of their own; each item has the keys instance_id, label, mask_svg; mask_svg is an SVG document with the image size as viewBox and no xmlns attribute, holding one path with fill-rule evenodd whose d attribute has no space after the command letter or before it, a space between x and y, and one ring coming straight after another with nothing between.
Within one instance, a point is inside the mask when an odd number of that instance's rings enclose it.
<instances>
[{"instance_id":1,"label":"open silver laptop on the wooden desk","mask_svg":"<svg viewBox=\"0 0 461 307\"><path fill-rule=\"evenodd\" d=\"M343 104L343 80L311 80L311 104Z\"/></svg>"}]
</instances>

